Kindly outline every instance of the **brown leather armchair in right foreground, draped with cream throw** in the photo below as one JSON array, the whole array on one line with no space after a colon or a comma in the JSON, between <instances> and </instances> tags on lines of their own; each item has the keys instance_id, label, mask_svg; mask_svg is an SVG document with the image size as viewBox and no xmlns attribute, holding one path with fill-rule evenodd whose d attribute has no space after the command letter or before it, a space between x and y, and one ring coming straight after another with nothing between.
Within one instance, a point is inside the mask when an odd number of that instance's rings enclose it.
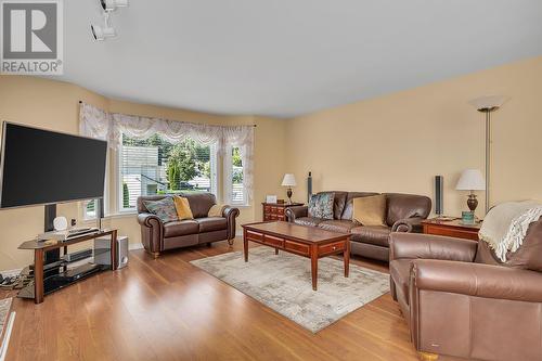
<instances>
[{"instance_id":1,"label":"brown leather armchair in right foreground, draped with cream throw","mask_svg":"<svg viewBox=\"0 0 542 361\"><path fill-rule=\"evenodd\" d=\"M486 242L393 233L389 270L418 351L542 360L542 218L506 263Z\"/></svg>"}]
</instances>

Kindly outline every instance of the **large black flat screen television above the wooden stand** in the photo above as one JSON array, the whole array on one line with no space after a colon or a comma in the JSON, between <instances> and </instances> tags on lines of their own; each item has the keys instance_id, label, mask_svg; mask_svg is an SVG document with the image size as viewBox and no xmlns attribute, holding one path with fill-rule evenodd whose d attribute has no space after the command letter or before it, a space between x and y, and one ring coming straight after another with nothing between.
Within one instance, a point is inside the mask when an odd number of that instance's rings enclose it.
<instances>
[{"instance_id":1,"label":"large black flat screen television above the wooden stand","mask_svg":"<svg viewBox=\"0 0 542 361\"><path fill-rule=\"evenodd\" d=\"M103 197L107 143L2 124L0 208Z\"/></svg>"}]
</instances>

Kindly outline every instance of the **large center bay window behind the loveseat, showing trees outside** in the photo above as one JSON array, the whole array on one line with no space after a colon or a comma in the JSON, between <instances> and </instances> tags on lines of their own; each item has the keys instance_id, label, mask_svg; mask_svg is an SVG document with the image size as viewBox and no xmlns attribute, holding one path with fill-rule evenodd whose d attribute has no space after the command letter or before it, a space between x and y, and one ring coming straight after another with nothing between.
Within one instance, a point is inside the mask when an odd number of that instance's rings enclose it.
<instances>
[{"instance_id":1,"label":"large center bay window behind the loveseat, showing trees outside","mask_svg":"<svg viewBox=\"0 0 542 361\"><path fill-rule=\"evenodd\" d=\"M216 145L193 139L170 143L159 134L122 136L119 151L120 211L136 209L141 195L206 191L217 194Z\"/></svg>"}]
</instances>

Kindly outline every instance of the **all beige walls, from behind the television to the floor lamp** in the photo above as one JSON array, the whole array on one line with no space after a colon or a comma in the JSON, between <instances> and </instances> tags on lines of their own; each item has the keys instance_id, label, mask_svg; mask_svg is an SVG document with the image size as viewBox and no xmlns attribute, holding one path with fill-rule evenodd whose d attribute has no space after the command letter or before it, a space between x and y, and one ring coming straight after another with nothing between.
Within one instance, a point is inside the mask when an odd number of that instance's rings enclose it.
<instances>
[{"instance_id":1,"label":"all beige walls, from behind the television to the floor lamp","mask_svg":"<svg viewBox=\"0 0 542 361\"><path fill-rule=\"evenodd\" d=\"M467 101L504 94L509 101L493 115L492 203L542 199L540 155L542 57L358 102L288 120L257 116L219 116L109 100L80 87L31 77L0 76L0 119L78 132L78 101L111 112L217 125L256 124L254 205L243 207L240 223L261 219L267 194L285 197L284 172L299 186L294 198L306 199L310 170L314 191L409 192L433 197L433 177L444 176L444 208L459 215L465 192L454 190L465 168L483 169L483 116ZM114 158L114 157L113 157ZM112 167L113 168L113 167ZM109 175L114 184L115 175ZM479 216L483 194L479 193ZM59 214L79 218L76 205ZM0 270L30 262L17 245L42 230L42 207L0 211ZM112 217L131 243L140 242L133 216Z\"/></svg>"}]
</instances>

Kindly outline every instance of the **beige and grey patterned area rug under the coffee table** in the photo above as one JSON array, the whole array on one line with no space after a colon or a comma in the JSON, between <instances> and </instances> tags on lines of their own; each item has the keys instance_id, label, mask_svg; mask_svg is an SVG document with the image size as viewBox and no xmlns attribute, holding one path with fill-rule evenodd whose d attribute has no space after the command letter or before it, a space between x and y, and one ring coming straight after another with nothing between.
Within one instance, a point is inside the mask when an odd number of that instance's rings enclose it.
<instances>
[{"instance_id":1,"label":"beige and grey patterned area rug under the coffee table","mask_svg":"<svg viewBox=\"0 0 542 361\"><path fill-rule=\"evenodd\" d=\"M389 292L389 276L343 260L318 262L318 291L312 291L310 260L269 247L250 248L248 262L241 252L194 260L192 265L257 299L282 315L317 333Z\"/></svg>"}]
</instances>

